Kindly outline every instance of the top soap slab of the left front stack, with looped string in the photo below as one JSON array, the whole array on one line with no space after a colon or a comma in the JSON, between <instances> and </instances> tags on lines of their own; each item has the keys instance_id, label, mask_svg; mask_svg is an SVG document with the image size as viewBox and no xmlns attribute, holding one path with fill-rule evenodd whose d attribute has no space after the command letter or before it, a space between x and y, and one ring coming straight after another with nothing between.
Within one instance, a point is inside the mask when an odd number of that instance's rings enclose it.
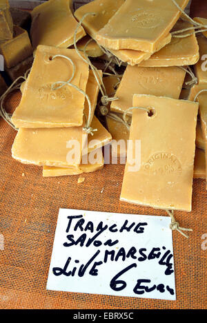
<instances>
[{"instance_id":1,"label":"top soap slab of the left front stack, with looped string","mask_svg":"<svg viewBox=\"0 0 207 323\"><path fill-rule=\"evenodd\" d=\"M71 83L86 92L89 67L75 50L39 45L34 57L19 106L12 116L15 127L72 127L83 124L85 96L70 85L52 90L52 84L68 81L72 64L61 54L72 59L75 76Z\"/></svg>"}]
</instances>

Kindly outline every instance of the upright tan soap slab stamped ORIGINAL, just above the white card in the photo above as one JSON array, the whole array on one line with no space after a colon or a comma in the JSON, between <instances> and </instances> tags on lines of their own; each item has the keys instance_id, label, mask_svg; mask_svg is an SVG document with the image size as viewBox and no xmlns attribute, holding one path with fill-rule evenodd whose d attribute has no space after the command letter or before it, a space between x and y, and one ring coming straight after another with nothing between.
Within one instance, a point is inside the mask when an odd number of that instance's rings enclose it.
<instances>
[{"instance_id":1,"label":"upright tan soap slab stamped ORIGINAL, just above the white card","mask_svg":"<svg viewBox=\"0 0 207 323\"><path fill-rule=\"evenodd\" d=\"M158 209L191 211L198 104L135 94L133 106L150 107L153 114L133 110L132 156L136 158L135 143L141 140L141 165L136 169L128 158L121 200Z\"/></svg>"}]
</instances>

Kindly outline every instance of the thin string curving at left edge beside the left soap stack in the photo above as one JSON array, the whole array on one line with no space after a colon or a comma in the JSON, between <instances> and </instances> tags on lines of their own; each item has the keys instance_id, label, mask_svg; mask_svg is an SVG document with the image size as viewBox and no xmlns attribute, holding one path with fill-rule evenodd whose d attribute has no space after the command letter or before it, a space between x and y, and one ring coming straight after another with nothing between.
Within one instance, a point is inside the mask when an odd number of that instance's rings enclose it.
<instances>
[{"instance_id":1,"label":"thin string curving at left edge beside the left soap stack","mask_svg":"<svg viewBox=\"0 0 207 323\"><path fill-rule=\"evenodd\" d=\"M10 125L14 130L18 130L13 123L11 122L11 117L12 114L8 114L8 112L6 112L5 107L3 107L3 103L6 99L6 96L8 96L8 94L14 92L15 90L19 90L21 84L23 83L23 81L26 81L26 79L28 78L28 74L30 72L31 69L27 70L26 73L23 76L19 76L11 85L10 87L8 87L8 89L6 90L6 92L4 92L1 97L0 97L0 114L3 118L3 120L6 121L6 123L8 123L8 125ZM23 81L21 83L17 83L19 80L23 79Z\"/></svg>"}]
</instances>

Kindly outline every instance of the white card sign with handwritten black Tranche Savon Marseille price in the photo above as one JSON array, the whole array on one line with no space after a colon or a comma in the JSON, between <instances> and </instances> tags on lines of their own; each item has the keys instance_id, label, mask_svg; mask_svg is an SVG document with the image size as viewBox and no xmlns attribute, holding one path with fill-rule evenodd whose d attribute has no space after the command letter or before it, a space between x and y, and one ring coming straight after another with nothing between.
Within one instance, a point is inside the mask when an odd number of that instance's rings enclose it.
<instances>
[{"instance_id":1,"label":"white card sign with handwritten black Tranche Savon Marseille price","mask_svg":"<svg viewBox=\"0 0 207 323\"><path fill-rule=\"evenodd\" d=\"M47 289L175 300L170 218L60 209Z\"/></svg>"}]
</instances>

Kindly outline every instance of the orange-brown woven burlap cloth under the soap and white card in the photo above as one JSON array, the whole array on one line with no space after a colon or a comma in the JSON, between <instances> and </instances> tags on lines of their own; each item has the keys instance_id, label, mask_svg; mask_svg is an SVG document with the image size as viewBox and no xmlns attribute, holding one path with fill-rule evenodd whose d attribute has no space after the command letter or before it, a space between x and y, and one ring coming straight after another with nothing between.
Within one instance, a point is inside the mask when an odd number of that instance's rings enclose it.
<instances>
[{"instance_id":1,"label":"orange-brown woven burlap cloth under the soap and white card","mask_svg":"<svg viewBox=\"0 0 207 323\"><path fill-rule=\"evenodd\" d=\"M7 101L14 110L20 93ZM124 165L78 176L43 178L41 167L11 157L16 132L0 118L0 308L3 309L206 309L205 180L193 185L192 213L175 212L181 227L193 229L186 239L173 234L177 300L147 300L46 291L59 208L166 216L164 211L119 201ZM23 176L24 174L24 176ZM101 219L100 219L101 220ZM2 240L2 239L1 239Z\"/></svg>"}]
</instances>

